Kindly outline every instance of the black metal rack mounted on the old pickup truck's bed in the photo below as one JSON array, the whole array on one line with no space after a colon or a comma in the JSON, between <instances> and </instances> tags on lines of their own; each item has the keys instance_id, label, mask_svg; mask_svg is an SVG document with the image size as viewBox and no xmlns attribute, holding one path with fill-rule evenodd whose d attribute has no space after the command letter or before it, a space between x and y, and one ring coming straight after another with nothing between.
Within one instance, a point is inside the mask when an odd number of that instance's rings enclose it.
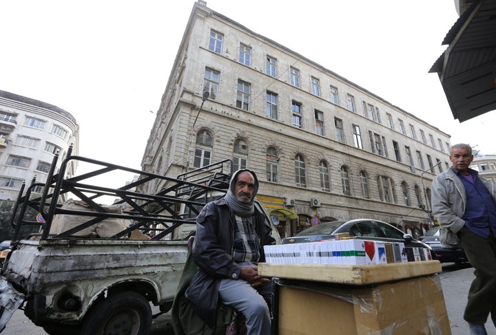
<instances>
[{"instance_id":1,"label":"black metal rack mounted on the old pickup truck's bed","mask_svg":"<svg viewBox=\"0 0 496 335\"><path fill-rule=\"evenodd\" d=\"M107 218L125 219L130 222L125 230L110 239L125 238L136 229L141 230L142 233L153 232L152 240L163 239L181 224L194 224L196 215L211 199L212 194L216 194L216 197L225 194L233 166L231 160L223 160L173 178L72 155L71 149L61 162L59 172L55 173L58 160L59 156L55 155L45 184L32 180L27 188L25 184L21 187L11 219L11 224L15 228L13 241L19 240L21 226L40 226L41 239L70 239L74 238L74 233ZM65 177L73 160L79 161L78 164L84 162L92 166L90 172ZM105 187L99 182L92 181L95 177L105 178L116 171L132 173L138 175L138 178L119 188ZM157 185L163 188L156 193L147 191L156 190ZM43 187L43 193L39 197L34 197L36 193L33 190L37 186ZM74 196L78 201L83 202L88 210L62 208L61 199L69 196ZM99 204L104 197L109 196L116 197L117 200L113 205L121 205L123 207L121 213L109 213L105 206ZM37 210L45 222L26 219L26 210L29 207ZM88 219L69 230L50 234L52 221L56 215L79 215Z\"/></svg>"}]
</instances>

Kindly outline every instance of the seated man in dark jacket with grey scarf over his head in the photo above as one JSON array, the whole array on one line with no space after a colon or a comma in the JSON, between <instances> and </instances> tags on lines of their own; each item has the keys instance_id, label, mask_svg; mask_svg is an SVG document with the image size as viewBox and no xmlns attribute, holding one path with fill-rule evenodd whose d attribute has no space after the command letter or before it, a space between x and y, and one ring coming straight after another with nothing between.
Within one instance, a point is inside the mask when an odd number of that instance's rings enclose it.
<instances>
[{"instance_id":1,"label":"seated man in dark jacket with grey scarf over his head","mask_svg":"<svg viewBox=\"0 0 496 335\"><path fill-rule=\"evenodd\" d=\"M256 174L238 170L226 196L198 215L192 250L198 272L185 296L211 327L221 302L245 316L249 335L269 335L271 315L265 299L271 299L272 282L258 275L257 264L265 261L263 246L276 241L265 216L254 207L257 192Z\"/></svg>"}]
</instances>

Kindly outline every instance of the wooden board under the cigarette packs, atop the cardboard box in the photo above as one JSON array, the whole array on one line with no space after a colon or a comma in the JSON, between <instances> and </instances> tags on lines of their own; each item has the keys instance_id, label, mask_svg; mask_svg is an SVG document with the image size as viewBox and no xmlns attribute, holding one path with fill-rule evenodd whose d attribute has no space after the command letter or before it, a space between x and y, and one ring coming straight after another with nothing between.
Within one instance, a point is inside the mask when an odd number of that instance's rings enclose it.
<instances>
[{"instance_id":1,"label":"wooden board under the cigarette packs, atop the cardboard box","mask_svg":"<svg viewBox=\"0 0 496 335\"><path fill-rule=\"evenodd\" d=\"M369 266L333 266L325 264L259 263L258 274L264 277L367 285L427 276L442 272L440 261L413 261Z\"/></svg>"}]
</instances>

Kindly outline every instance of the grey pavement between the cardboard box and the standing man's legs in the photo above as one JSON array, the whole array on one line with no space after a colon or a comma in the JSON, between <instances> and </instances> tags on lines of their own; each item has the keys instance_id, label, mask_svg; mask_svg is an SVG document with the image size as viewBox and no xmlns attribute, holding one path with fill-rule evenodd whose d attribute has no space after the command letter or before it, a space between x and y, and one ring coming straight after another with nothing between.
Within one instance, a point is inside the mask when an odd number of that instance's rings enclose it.
<instances>
[{"instance_id":1,"label":"grey pavement between the cardboard box and the standing man's legs","mask_svg":"<svg viewBox=\"0 0 496 335\"><path fill-rule=\"evenodd\" d=\"M442 267L443 272L440 274L441 285L451 325L451 334L468 335L470 333L463 314L468 289L474 279L474 269L470 266L457 266L455 263L443 263ZM488 335L496 335L496 327L493 325L490 316L486 321L486 330Z\"/></svg>"}]
</instances>

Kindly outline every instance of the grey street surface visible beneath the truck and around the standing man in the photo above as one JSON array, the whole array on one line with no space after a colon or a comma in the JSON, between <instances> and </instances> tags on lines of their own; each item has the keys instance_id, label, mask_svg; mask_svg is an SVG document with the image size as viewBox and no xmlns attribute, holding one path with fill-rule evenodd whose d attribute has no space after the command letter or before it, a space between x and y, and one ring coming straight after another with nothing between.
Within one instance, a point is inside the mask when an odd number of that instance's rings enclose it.
<instances>
[{"instance_id":1,"label":"grey street surface visible beneath the truck and around the standing man","mask_svg":"<svg viewBox=\"0 0 496 335\"><path fill-rule=\"evenodd\" d=\"M441 285L446 303L446 310L451 325L451 335L467 335L468 326L463 320L463 312L466 304L468 288L473 280L473 268L470 265L455 263L443 263L443 272L440 274ZM154 308L154 312L158 309ZM496 335L496 327L488 318L486 329L489 335ZM41 327L35 326L26 318L21 310L12 316L2 335L46 335ZM170 323L170 312L156 318L152 324L150 335L173 335Z\"/></svg>"}]
</instances>

